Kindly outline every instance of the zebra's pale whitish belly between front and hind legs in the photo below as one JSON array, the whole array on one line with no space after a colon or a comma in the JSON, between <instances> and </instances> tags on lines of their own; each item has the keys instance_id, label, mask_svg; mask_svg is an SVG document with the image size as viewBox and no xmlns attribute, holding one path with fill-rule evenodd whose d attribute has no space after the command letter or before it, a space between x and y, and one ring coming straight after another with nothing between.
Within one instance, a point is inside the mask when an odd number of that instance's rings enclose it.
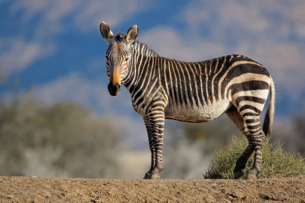
<instances>
[{"instance_id":1,"label":"zebra's pale whitish belly between front and hind legs","mask_svg":"<svg viewBox=\"0 0 305 203\"><path fill-rule=\"evenodd\" d=\"M220 117L230 107L232 103L230 101L222 101L220 103L214 103L210 105L204 105L199 107L185 107L185 108L172 108L168 107L165 110L165 118L174 119L184 122L208 122Z\"/></svg>"}]
</instances>

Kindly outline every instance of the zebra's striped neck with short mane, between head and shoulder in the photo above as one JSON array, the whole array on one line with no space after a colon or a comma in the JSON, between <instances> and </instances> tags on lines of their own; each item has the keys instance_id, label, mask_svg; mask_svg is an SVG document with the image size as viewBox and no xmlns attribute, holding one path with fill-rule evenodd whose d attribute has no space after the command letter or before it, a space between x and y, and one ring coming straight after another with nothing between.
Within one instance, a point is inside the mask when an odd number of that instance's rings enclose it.
<instances>
[{"instance_id":1,"label":"zebra's striped neck with short mane, between head and shoulder","mask_svg":"<svg viewBox=\"0 0 305 203\"><path fill-rule=\"evenodd\" d=\"M137 75L140 69L145 67L142 66L143 59L147 57L157 57L159 54L154 50L150 49L145 43L135 40L132 45L132 56L127 71L127 76L123 80L123 84L129 90L131 86L136 84L138 81Z\"/></svg>"}]
</instances>

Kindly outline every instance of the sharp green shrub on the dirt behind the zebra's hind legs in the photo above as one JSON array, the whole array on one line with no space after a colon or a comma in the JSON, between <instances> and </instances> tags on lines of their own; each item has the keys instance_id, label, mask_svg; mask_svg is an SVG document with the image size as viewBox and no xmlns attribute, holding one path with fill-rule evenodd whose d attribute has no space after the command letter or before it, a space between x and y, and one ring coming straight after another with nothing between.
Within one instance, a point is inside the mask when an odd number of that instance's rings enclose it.
<instances>
[{"instance_id":1,"label":"sharp green shrub on the dirt behind the zebra's hind legs","mask_svg":"<svg viewBox=\"0 0 305 203\"><path fill-rule=\"evenodd\" d=\"M262 171L258 175L259 178L305 175L304 155L286 152L282 148L283 144L275 146L274 143L269 143L269 140L270 138L267 138L263 146ZM215 159L211 161L205 174L202 174L203 178L234 179L235 162L248 146L248 141L245 137L240 139L233 135L231 144L230 149L225 148L216 152ZM243 170L245 172L244 176L252 168L253 162L254 153Z\"/></svg>"}]
</instances>

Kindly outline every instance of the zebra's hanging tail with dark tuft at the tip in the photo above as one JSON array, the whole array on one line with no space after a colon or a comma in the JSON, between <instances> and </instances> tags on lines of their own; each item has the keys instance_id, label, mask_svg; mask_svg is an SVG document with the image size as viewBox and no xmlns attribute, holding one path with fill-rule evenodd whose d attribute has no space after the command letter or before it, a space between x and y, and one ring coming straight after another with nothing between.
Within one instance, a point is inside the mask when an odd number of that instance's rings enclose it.
<instances>
[{"instance_id":1,"label":"zebra's hanging tail with dark tuft at the tip","mask_svg":"<svg viewBox=\"0 0 305 203\"><path fill-rule=\"evenodd\" d=\"M273 82L272 78L270 77L270 98L269 98L269 106L268 110L265 115L265 120L263 124L263 131L265 136L268 137L272 131L272 124L273 124L273 116L275 115L275 103L276 103L276 87L275 83Z\"/></svg>"}]
</instances>

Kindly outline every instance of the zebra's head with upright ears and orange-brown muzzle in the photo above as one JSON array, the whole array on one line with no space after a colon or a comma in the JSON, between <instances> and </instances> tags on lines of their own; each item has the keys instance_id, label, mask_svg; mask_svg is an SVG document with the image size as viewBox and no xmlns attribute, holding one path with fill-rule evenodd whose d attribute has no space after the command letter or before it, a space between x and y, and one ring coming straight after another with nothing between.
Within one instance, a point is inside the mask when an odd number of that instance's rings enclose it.
<instances>
[{"instance_id":1,"label":"zebra's head with upright ears and orange-brown muzzle","mask_svg":"<svg viewBox=\"0 0 305 203\"><path fill-rule=\"evenodd\" d=\"M100 31L103 38L108 42L106 51L107 76L110 80L108 91L110 95L116 96L127 73L131 58L130 45L138 36L138 26L134 25L129 28L126 35L118 32L114 36L109 26L105 22L101 22Z\"/></svg>"}]
</instances>

